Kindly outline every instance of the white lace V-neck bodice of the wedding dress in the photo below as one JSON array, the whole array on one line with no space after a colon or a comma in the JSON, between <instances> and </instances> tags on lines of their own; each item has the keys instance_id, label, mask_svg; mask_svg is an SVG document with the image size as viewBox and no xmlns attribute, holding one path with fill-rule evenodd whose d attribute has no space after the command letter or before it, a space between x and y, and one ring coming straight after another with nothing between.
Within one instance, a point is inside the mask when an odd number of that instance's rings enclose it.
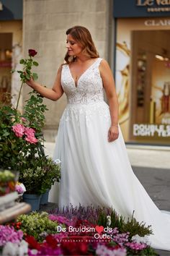
<instances>
[{"instance_id":1,"label":"white lace V-neck bodice of the wedding dress","mask_svg":"<svg viewBox=\"0 0 170 256\"><path fill-rule=\"evenodd\" d=\"M68 103L88 104L104 101L102 77L99 73L99 64L102 61L98 58L86 71L81 74L77 86L71 75L68 64L63 65L61 72L61 85L66 93Z\"/></svg>"}]
</instances>

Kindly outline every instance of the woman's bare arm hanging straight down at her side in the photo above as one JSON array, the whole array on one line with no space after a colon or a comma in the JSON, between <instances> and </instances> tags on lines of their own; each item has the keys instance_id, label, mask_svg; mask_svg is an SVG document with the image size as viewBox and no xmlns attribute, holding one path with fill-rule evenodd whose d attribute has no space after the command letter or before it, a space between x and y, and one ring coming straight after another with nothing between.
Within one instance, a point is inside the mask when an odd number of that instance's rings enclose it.
<instances>
[{"instance_id":1,"label":"woman's bare arm hanging straight down at her side","mask_svg":"<svg viewBox=\"0 0 170 256\"><path fill-rule=\"evenodd\" d=\"M119 136L118 119L119 119L119 106L117 101L117 94L115 90L115 81L112 75L112 70L109 68L109 64L104 59L99 65L99 71L102 77L104 90L107 95L109 103L109 111L111 116L111 126L108 132L108 141L112 142Z\"/></svg>"}]
</instances>

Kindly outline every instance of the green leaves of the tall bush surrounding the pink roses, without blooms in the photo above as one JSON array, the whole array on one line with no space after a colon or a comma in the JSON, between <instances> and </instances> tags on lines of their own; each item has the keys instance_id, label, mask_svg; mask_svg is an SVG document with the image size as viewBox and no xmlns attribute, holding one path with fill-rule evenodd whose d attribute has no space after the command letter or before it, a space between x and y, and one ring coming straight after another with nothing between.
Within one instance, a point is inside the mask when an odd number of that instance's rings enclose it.
<instances>
[{"instance_id":1,"label":"green leaves of the tall bush surrounding the pink roses, without blooms","mask_svg":"<svg viewBox=\"0 0 170 256\"><path fill-rule=\"evenodd\" d=\"M24 106L24 114L20 114L12 105L0 103L0 167L19 170L22 168L26 157L34 158L35 155L44 156L42 128L45 125L46 106L42 103L40 94L32 91L30 99ZM22 118L26 120L23 122ZM25 127L35 129L38 142L32 144L17 137L12 131L14 124L23 124Z\"/></svg>"}]
</instances>

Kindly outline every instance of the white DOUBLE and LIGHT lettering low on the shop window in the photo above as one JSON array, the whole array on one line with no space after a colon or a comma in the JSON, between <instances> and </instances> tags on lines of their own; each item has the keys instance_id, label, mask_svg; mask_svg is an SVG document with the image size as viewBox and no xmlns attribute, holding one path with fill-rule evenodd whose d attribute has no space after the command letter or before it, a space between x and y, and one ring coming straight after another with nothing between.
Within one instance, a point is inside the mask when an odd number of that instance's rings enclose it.
<instances>
[{"instance_id":1,"label":"white DOUBLE and LIGHT lettering low on the shop window","mask_svg":"<svg viewBox=\"0 0 170 256\"><path fill-rule=\"evenodd\" d=\"M166 124L133 124L133 136L170 137L170 125Z\"/></svg>"}]
</instances>

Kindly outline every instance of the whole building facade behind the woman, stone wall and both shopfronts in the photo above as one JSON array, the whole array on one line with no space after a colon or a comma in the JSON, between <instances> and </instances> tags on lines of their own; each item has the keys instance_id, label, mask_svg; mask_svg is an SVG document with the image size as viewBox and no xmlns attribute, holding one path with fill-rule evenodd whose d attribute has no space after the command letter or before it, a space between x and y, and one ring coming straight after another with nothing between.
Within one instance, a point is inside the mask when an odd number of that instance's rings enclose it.
<instances>
[{"instance_id":1,"label":"whole building facade behind the woman, stone wall and both shopfronts","mask_svg":"<svg viewBox=\"0 0 170 256\"><path fill-rule=\"evenodd\" d=\"M125 142L170 144L169 1L15 0L17 10L12 0L0 3L1 92L17 95L16 74L3 77L18 65L21 55L27 56L28 48L37 51L39 82L51 88L66 54L66 30L83 25L115 75ZM21 109L29 91L25 86ZM54 141L66 97L45 103L45 138Z\"/></svg>"}]
</instances>

